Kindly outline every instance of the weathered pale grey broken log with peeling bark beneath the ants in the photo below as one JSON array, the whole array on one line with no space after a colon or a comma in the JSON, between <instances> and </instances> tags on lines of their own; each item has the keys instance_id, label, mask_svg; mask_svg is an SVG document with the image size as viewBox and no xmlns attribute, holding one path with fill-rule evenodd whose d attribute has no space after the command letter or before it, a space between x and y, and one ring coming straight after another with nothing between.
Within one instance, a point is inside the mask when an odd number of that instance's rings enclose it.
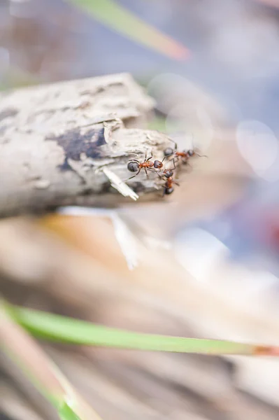
<instances>
[{"instance_id":1,"label":"weathered pale grey broken log with peeling bark beneath the ants","mask_svg":"<svg viewBox=\"0 0 279 420\"><path fill-rule=\"evenodd\" d=\"M153 100L122 73L3 92L0 96L0 217L65 205L119 207L133 202L112 188L131 158L162 160L166 135L143 130ZM137 128L135 128L137 127ZM162 197L144 171L128 185L140 201Z\"/></svg>"}]
</instances>

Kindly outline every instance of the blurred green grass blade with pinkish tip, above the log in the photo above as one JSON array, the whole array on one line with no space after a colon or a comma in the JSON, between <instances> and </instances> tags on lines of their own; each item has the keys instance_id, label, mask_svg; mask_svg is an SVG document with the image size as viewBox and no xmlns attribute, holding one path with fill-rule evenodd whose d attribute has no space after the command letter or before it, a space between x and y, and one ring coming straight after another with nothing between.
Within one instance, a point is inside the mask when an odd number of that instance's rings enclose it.
<instances>
[{"instance_id":1,"label":"blurred green grass blade with pinkish tip, above the log","mask_svg":"<svg viewBox=\"0 0 279 420\"><path fill-rule=\"evenodd\" d=\"M187 59L189 57L189 50L184 45L174 41L171 36L163 34L159 29L148 25L134 13L131 13L113 0L66 1L80 8L110 29L172 59Z\"/></svg>"}]
</instances>

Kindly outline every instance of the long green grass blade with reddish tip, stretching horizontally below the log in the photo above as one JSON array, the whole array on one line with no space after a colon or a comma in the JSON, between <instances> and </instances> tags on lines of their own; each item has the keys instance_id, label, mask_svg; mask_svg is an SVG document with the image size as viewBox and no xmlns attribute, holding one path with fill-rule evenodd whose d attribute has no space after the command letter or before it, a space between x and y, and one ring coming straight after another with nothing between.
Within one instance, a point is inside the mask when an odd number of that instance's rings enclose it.
<instances>
[{"instance_id":1,"label":"long green grass blade with reddish tip, stretching horizontally below the log","mask_svg":"<svg viewBox=\"0 0 279 420\"><path fill-rule=\"evenodd\" d=\"M6 308L10 316L31 334L55 342L178 353L279 355L275 346L143 334L11 305Z\"/></svg>"}]
</instances>

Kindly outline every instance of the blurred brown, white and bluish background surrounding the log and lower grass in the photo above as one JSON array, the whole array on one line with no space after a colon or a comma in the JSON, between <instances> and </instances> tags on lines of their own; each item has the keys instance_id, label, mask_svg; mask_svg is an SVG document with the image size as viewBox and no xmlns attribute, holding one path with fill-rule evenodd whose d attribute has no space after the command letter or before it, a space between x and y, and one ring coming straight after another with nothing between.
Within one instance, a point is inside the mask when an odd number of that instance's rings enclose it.
<instances>
[{"instance_id":1,"label":"blurred brown, white and bluish background surrounding the log and lower grass","mask_svg":"<svg viewBox=\"0 0 279 420\"><path fill-rule=\"evenodd\" d=\"M148 128L198 147L180 188L121 209L0 224L10 301L130 330L279 344L277 0L0 0L0 87L129 72ZM109 261L109 264L108 264ZM269 359L43 344L103 419L276 419ZM52 418L1 369L9 419Z\"/></svg>"}]
</instances>

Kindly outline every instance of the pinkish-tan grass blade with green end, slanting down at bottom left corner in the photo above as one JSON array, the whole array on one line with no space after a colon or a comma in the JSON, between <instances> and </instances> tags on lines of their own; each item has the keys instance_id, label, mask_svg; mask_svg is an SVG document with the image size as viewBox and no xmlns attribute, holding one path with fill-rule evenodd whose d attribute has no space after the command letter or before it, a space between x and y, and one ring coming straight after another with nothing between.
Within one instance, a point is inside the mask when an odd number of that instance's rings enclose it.
<instances>
[{"instance_id":1,"label":"pinkish-tan grass blade with green end, slanting down at bottom left corner","mask_svg":"<svg viewBox=\"0 0 279 420\"><path fill-rule=\"evenodd\" d=\"M101 420L0 300L0 350L57 409L62 420Z\"/></svg>"}]
</instances>

